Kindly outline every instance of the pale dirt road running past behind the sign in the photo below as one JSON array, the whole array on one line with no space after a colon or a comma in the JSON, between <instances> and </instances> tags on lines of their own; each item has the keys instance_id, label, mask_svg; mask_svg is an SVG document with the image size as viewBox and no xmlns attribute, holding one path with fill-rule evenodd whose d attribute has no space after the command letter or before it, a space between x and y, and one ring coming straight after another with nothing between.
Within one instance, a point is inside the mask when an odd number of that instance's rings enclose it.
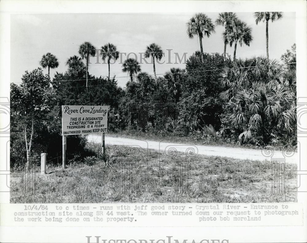
<instances>
[{"instance_id":1,"label":"pale dirt road running past behind the sign","mask_svg":"<svg viewBox=\"0 0 307 243\"><path fill-rule=\"evenodd\" d=\"M101 143L101 136L90 134L87 138L88 142ZM125 146L139 146L141 148L155 149L165 153L173 153L174 151L196 154L208 155L208 156L222 156L237 159L250 159L250 160L277 160L283 161L286 159L287 163L298 163L297 152L289 152L288 154L282 151L273 150L255 150L255 149L243 149L243 148L232 148L232 147L220 147L220 146L203 146L203 145L189 145L170 143L165 141L145 141L138 139L127 139L127 138L116 138L116 137L105 137L106 145L125 145ZM285 156L286 154L287 156Z\"/></svg>"}]
</instances>

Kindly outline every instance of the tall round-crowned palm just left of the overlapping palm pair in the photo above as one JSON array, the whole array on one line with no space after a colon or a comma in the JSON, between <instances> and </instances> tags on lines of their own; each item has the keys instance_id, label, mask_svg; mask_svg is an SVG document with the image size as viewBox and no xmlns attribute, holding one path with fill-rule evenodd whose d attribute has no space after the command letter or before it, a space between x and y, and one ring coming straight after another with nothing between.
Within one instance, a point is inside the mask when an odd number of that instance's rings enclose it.
<instances>
[{"instance_id":1,"label":"tall round-crowned palm just left of the overlapping palm pair","mask_svg":"<svg viewBox=\"0 0 307 243\"><path fill-rule=\"evenodd\" d=\"M204 13L196 13L187 23L187 34L190 39L198 35L200 42L200 52L203 53L202 39L204 36L209 36L215 33L214 25L211 18Z\"/></svg>"}]
</instances>

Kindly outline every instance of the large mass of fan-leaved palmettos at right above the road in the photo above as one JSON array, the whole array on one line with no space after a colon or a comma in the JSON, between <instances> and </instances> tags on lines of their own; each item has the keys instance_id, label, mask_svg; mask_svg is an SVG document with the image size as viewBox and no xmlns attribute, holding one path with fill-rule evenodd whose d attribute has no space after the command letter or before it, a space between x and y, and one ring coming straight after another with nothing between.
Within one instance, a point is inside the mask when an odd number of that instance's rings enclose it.
<instances>
[{"instance_id":1,"label":"large mass of fan-leaved palmettos at right above the road","mask_svg":"<svg viewBox=\"0 0 307 243\"><path fill-rule=\"evenodd\" d=\"M235 60L224 67L221 84L227 90L220 97L231 108L229 122L243 131L239 136L243 142L257 130L261 131L264 144L278 131L295 130L296 78L286 80L280 74L278 63L267 58Z\"/></svg>"}]
</instances>

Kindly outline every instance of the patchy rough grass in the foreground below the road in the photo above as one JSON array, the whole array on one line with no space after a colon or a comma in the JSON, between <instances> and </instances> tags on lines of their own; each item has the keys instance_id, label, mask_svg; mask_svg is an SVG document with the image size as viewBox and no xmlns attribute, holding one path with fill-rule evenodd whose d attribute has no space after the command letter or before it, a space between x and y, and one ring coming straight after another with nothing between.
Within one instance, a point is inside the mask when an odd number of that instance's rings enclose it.
<instances>
[{"instance_id":1,"label":"patchy rough grass in the foreground below the road","mask_svg":"<svg viewBox=\"0 0 307 243\"><path fill-rule=\"evenodd\" d=\"M87 146L99 153L100 144ZM115 148L115 149L114 149ZM111 151L112 149L112 151ZM87 157L71 161L62 170L48 166L46 175L37 169L35 183L21 172L11 173L11 203L112 203L112 202L279 202L297 200L297 166L286 164L286 193L271 195L269 161L238 160L178 153L170 158L156 150L107 147L107 159ZM39 169L39 168L38 168ZM29 175L28 175L29 176ZM26 188L26 190L24 189ZM26 192L25 192L26 191Z\"/></svg>"}]
</instances>

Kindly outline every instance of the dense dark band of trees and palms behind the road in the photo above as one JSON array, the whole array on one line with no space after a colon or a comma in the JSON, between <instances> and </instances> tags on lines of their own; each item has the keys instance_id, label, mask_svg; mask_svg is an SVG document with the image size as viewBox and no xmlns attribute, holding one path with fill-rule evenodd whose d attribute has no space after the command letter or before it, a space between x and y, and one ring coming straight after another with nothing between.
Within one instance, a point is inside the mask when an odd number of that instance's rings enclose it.
<instances>
[{"instance_id":1,"label":"dense dark band of trees and palms behind the road","mask_svg":"<svg viewBox=\"0 0 307 243\"><path fill-rule=\"evenodd\" d=\"M282 17L280 12L255 13L256 23ZM235 13L220 13L215 22L204 13L195 14L187 23L190 38L197 36L200 50L187 60L185 69L171 68L164 75L156 74L156 60L162 47L152 43L145 58L151 58L153 74L142 72L135 59L127 59L122 71L130 80L118 87L110 78L110 60L118 59L114 44L101 47L90 42L80 45L79 56L67 59L67 71L50 78L50 68L59 66L51 53L42 56L40 64L48 68L26 71L21 85L11 84L11 167L38 161L46 150L49 162L61 161L61 105L108 105L109 131L142 135L177 135L210 143L231 143L253 146L290 146L296 141L296 50L288 50L283 63L267 57L238 59L224 54L203 52L202 39L223 25L224 52L227 44L249 46L252 29ZM266 28L266 33L268 28ZM145 47L146 45L144 45ZM247 48L247 47L244 47ZM107 60L107 78L88 72L89 59L99 53ZM140 107L146 114L139 117L131 107ZM68 136L68 159L91 155L85 136ZM38 146L39 145L39 146ZM77 151L77 152L76 152Z\"/></svg>"}]
</instances>

